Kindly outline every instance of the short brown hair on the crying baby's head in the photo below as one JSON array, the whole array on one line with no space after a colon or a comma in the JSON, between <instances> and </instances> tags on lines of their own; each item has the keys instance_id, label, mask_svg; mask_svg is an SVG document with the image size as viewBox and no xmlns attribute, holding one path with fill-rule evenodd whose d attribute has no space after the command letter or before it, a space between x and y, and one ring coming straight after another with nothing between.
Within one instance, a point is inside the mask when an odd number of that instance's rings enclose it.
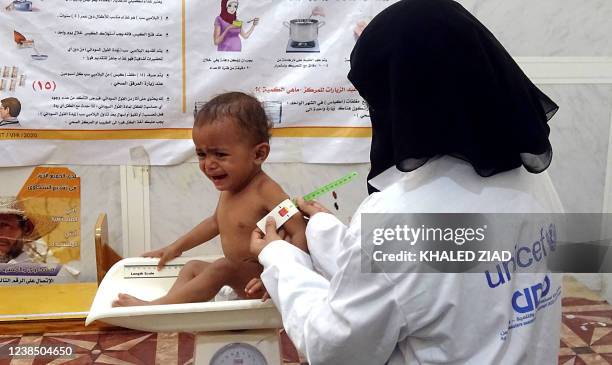
<instances>
[{"instance_id":1,"label":"short brown hair on the crying baby's head","mask_svg":"<svg viewBox=\"0 0 612 365\"><path fill-rule=\"evenodd\" d=\"M235 121L254 143L270 142L272 123L261 102L252 95L238 91L220 94L209 100L196 115L193 127L227 120Z\"/></svg>"}]
</instances>

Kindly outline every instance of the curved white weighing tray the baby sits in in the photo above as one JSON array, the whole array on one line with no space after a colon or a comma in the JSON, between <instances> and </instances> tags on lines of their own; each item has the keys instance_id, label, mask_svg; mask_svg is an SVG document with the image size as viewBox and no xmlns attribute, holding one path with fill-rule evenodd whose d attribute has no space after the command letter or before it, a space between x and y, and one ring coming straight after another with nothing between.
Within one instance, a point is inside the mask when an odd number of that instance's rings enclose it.
<instances>
[{"instance_id":1,"label":"curved white weighing tray the baby sits in","mask_svg":"<svg viewBox=\"0 0 612 365\"><path fill-rule=\"evenodd\" d=\"M177 257L157 271L158 259L132 257L117 262L108 271L87 316L86 325L99 320L115 326L149 332L203 332L282 328L280 314L271 300L112 307L119 293L144 300L164 295L185 263L198 259L214 261L219 256Z\"/></svg>"}]
</instances>

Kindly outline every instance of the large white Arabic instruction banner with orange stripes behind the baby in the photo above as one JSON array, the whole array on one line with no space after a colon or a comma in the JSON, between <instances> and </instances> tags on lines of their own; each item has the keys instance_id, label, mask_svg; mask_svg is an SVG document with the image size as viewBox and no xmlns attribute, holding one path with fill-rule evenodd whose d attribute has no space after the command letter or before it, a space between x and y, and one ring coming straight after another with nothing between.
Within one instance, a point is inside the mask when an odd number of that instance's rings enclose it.
<instances>
[{"instance_id":1,"label":"large white Arabic instruction banner with orange stripes behind the baby","mask_svg":"<svg viewBox=\"0 0 612 365\"><path fill-rule=\"evenodd\" d=\"M346 74L393 2L5 0L0 165L188 161L194 113L234 90L264 102L270 160L368 161L368 108Z\"/></svg>"}]
</instances>

